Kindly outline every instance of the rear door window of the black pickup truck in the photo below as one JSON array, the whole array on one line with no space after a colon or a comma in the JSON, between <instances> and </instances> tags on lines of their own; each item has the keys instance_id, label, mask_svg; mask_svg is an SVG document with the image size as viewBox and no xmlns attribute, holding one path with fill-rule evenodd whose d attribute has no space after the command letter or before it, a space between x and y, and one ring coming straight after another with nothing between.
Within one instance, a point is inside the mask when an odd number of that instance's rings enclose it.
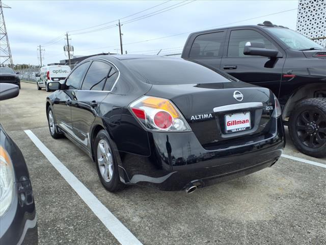
<instances>
[{"instance_id":1,"label":"rear door window of the black pickup truck","mask_svg":"<svg viewBox=\"0 0 326 245\"><path fill-rule=\"evenodd\" d=\"M189 57L221 57L225 32L202 34L195 38Z\"/></svg>"}]
</instances>

